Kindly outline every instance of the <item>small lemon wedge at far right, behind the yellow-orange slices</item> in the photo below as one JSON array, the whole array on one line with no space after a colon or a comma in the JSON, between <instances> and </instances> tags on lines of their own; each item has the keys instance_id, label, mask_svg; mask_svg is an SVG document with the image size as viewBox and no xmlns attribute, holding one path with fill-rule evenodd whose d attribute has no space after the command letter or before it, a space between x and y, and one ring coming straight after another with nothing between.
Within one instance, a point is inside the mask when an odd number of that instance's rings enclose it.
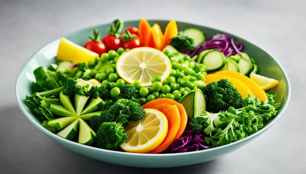
<instances>
[{"instance_id":1,"label":"small lemon wedge at far right, behind the yellow-orange slices","mask_svg":"<svg viewBox=\"0 0 306 174\"><path fill-rule=\"evenodd\" d=\"M250 74L250 79L256 82L264 91L275 87L279 83L278 80L261 76L255 73Z\"/></svg>"}]
</instances>

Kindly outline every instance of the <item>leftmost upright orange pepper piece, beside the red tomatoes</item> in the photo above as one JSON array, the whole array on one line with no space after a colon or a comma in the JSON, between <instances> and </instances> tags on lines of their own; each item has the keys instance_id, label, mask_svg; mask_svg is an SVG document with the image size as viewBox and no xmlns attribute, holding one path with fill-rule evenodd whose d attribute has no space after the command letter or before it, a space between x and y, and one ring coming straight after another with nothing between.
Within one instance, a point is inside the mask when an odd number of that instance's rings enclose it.
<instances>
[{"instance_id":1,"label":"leftmost upright orange pepper piece, beside the red tomatoes","mask_svg":"<svg viewBox=\"0 0 306 174\"><path fill-rule=\"evenodd\" d=\"M151 36L151 26L148 23L148 21L145 20L144 18L141 18L139 22L138 34L139 34L140 45L142 47L149 46L149 40Z\"/></svg>"}]
</instances>

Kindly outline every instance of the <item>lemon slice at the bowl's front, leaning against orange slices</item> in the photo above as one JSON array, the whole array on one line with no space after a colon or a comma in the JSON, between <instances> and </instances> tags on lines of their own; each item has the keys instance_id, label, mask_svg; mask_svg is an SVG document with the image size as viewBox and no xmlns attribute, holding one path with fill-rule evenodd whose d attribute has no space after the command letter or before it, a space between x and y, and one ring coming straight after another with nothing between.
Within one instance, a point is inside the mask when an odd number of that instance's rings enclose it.
<instances>
[{"instance_id":1,"label":"lemon slice at the bowl's front, leaning against orange slices","mask_svg":"<svg viewBox=\"0 0 306 174\"><path fill-rule=\"evenodd\" d=\"M120 147L127 152L147 153L162 143L168 132L167 117L156 109L144 109L146 115L137 122L125 126L128 140Z\"/></svg>"}]
</instances>

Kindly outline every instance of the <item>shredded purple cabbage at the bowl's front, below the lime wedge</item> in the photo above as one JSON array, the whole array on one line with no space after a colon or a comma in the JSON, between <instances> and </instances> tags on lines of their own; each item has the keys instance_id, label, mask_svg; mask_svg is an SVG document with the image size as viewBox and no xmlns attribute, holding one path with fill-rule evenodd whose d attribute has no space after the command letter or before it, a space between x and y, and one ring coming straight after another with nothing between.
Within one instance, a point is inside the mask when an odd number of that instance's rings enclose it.
<instances>
[{"instance_id":1,"label":"shredded purple cabbage at the bowl's front, below the lime wedge","mask_svg":"<svg viewBox=\"0 0 306 174\"><path fill-rule=\"evenodd\" d=\"M197 133L187 126L182 136L175 140L165 151L162 153L182 153L192 152L209 149L204 140L205 134Z\"/></svg>"}]
</instances>

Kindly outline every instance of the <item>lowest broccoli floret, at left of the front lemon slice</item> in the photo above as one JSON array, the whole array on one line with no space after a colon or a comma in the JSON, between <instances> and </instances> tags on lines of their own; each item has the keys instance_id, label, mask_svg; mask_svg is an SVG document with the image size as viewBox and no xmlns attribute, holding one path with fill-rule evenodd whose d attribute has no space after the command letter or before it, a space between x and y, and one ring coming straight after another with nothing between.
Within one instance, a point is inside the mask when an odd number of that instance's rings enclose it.
<instances>
[{"instance_id":1,"label":"lowest broccoli floret, at left of the front lemon slice","mask_svg":"<svg viewBox=\"0 0 306 174\"><path fill-rule=\"evenodd\" d=\"M102 123L96 134L96 146L102 149L114 150L128 139L122 123Z\"/></svg>"}]
</instances>

